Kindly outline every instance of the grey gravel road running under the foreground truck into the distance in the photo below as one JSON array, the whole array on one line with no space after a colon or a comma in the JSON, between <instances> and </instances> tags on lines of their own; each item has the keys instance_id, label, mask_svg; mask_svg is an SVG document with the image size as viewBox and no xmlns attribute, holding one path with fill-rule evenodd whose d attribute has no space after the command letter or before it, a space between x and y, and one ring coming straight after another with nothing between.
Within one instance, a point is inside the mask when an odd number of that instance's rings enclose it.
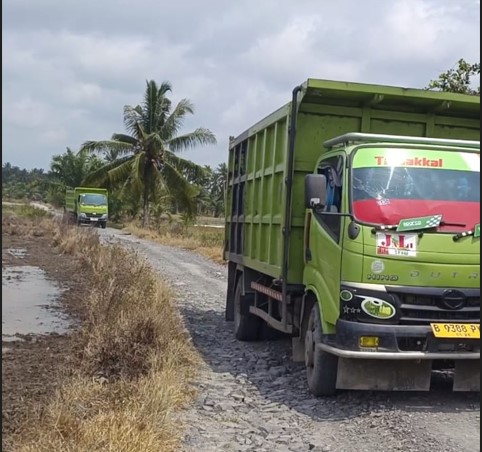
<instances>
[{"instance_id":1,"label":"grey gravel road running under the foreground truck into the distance","mask_svg":"<svg viewBox=\"0 0 482 452\"><path fill-rule=\"evenodd\" d=\"M224 320L227 272L189 251L99 230L144 256L177 293L204 364L184 416L185 452L480 451L480 393L454 393L443 375L431 392L343 391L317 399L290 341L242 343Z\"/></svg>"}]
</instances>

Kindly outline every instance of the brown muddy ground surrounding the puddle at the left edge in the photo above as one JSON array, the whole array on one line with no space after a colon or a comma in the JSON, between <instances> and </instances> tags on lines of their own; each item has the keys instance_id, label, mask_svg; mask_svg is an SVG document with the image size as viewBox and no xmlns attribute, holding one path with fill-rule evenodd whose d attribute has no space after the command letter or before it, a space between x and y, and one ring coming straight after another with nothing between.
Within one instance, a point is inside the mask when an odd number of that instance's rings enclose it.
<instances>
[{"instance_id":1,"label":"brown muddy ground surrounding the puddle at the left edge","mask_svg":"<svg viewBox=\"0 0 482 452\"><path fill-rule=\"evenodd\" d=\"M68 315L72 321L68 334L17 335L13 341L4 341L2 336L2 450L5 451L15 435L21 434L32 410L45 406L79 359L74 332L83 316L82 295L87 277L79 272L70 256L52 246L48 229L40 225L29 227L22 220L9 221L9 224L3 221L2 270L20 266L42 269L46 278L62 289L51 309Z\"/></svg>"}]
</instances>

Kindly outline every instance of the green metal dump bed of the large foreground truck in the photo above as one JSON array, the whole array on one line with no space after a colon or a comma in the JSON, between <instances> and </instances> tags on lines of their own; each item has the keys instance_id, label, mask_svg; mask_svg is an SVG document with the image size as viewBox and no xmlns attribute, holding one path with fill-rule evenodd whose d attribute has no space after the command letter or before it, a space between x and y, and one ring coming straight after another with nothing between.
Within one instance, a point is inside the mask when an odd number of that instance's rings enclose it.
<instances>
[{"instance_id":1,"label":"green metal dump bed of the large foreground truck","mask_svg":"<svg viewBox=\"0 0 482 452\"><path fill-rule=\"evenodd\" d=\"M291 103L231 141L226 259L281 277ZM309 79L298 95L288 283L303 274L304 176L323 142L349 132L480 139L480 98Z\"/></svg>"}]
</instances>

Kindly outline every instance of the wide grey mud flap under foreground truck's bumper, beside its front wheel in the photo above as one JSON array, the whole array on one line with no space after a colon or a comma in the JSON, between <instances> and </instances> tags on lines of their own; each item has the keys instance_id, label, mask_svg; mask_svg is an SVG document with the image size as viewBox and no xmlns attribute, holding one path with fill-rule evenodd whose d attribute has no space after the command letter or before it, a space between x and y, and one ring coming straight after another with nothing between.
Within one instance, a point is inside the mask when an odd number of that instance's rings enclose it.
<instances>
[{"instance_id":1,"label":"wide grey mud flap under foreground truck's bumper, beside its front wheel","mask_svg":"<svg viewBox=\"0 0 482 452\"><path fill-rule=\"evenodd\" d=\"M337 389L429 391L431 360L338 359Z\"/></svg>"}]
</instances>

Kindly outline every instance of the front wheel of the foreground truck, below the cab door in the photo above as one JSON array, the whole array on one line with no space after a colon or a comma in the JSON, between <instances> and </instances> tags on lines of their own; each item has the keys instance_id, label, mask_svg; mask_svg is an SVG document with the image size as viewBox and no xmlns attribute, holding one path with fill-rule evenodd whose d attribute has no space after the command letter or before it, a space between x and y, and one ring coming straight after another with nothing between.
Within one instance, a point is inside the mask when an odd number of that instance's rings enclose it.
<instances>
[{"instance_id":1,"label":"front wheel of the foreground truck, below the cab door","mask_svg":"<svg viewBox=\"0 0 482 452\"><path fill-rule=\"evenodd\" d=\"M338 357L317 349L322 339L318 303L315 303L305 333L305 365L308 387L315 396L333 395L336 391Z\"/></svg>"}]
</instances>

